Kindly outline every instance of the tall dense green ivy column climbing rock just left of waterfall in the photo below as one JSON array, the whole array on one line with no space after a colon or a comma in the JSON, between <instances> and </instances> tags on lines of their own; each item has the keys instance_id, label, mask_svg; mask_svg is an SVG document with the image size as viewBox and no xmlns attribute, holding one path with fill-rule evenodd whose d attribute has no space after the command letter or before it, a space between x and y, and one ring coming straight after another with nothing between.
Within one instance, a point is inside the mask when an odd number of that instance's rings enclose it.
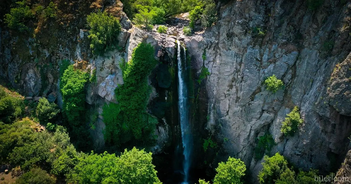
<instances>
[{"instance_id":1,"label":"tall dense green ivy column climbing rock just left of waterfall","mask_svg":"<svg viewBox=\"0 0 351 184\"><path fill-rule=\"evenodd\" d=\"M150 139L157 120L146 113L151 92L148 75L156 63L154 48L145 43L140 43L134 49L128 63L120 63L124 84L115 90L119 104L105 105L102 113L106 124L105 139L108 143Z\"/></svg>"}]
</instances>

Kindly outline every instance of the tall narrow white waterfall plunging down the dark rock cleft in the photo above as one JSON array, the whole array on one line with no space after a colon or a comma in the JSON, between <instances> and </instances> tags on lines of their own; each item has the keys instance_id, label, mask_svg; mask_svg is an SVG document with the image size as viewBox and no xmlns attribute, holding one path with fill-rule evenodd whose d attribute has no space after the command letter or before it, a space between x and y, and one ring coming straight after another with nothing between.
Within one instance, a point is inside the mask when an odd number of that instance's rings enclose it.
<instances>
[{"instance_id":1,"label":"tall narrow white waterfall plunging down the dark rock cleft","mask_svg":"<svg viewBox=\"0 0 351 184\"><path fill-rule=\"evenodd\" d=\"M186 54L185 54L185 48L184 48L184 63L182 63L182 58L181 58L181 45L180 41L177 40L178 44L178 53L177 53L177 59L178 59L178 96L179 96L179 102L178 102L178 109L179 109L179 120L180 120L180 129L181 129L181 139L183 143L183 155L184 155L184 162L183 162L183 171L184 171L184 182L183 184L188 183L188 174L189 174L189 169L190 169L190 152L191 152L191 146L192 146L192 137L191 137L191 132L190 132L190 126L189 126L189 119L188 119L188 94L187 94L187 88L186 88L186 83L184 82L185 78L185 70L186 70Z\"/></svg>"}]
</instances>

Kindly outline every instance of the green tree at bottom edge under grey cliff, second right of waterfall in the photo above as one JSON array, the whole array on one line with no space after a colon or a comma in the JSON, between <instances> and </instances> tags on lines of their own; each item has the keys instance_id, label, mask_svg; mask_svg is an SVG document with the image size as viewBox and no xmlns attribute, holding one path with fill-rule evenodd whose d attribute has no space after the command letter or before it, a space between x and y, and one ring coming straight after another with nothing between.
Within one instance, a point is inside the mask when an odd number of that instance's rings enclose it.
<instances>
[{"instance_id":1,"label":"green tree at bottom edge under grey cliff, second right of waterfall","mask_svg":"<svg viewBox=\"0 0 351 184\"><path fill-rule=\"evenodd\" d=\"M285 158L276 153L272 157L264 156L264 162L262 163L263 168L258 173L258 180L260 184L272 184L274 181L280 178L280 175L289 169Z\"/></svg>"}]
</instances>

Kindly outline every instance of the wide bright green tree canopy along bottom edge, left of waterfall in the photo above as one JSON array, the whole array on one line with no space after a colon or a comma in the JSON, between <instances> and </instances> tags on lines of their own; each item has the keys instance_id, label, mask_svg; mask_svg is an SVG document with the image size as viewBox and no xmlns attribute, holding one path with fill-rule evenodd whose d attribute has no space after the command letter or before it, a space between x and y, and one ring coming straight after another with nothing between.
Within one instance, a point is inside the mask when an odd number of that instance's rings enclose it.
<instances>
[{"instance_id":1,"label":"wide bright green tree canopy along bottom edge, left of waterfall","mask_svg":"<svg viewBox=\"0 0 351 184\"><path fill-rule=\"evenodd\" d=\"M72 174L72 183L161 184L152 164L151 153L133 148L120 157L115 154L82 154Z\"/></svg>"}]
</instances>

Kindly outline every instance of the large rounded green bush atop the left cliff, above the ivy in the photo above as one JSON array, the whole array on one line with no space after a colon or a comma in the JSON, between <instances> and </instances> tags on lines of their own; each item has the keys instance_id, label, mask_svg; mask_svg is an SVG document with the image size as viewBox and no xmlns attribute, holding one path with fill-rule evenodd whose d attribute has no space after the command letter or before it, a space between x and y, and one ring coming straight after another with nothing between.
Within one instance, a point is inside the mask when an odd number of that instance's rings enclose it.
<instances>
[{"instance_id":1,"label":"large rounded green bush atop the left cliff, above the ivy","mask_svg":"<svg viewBox=\"0 0 351 184\"><path fill-rule=\"evenodd\" d=\"M90 27L90 48L94 54L103 54L117 46L121 25L114 16L108 16L106 12L91 13L87 16L87 22Z\"/></svg>"}]
</instances>

